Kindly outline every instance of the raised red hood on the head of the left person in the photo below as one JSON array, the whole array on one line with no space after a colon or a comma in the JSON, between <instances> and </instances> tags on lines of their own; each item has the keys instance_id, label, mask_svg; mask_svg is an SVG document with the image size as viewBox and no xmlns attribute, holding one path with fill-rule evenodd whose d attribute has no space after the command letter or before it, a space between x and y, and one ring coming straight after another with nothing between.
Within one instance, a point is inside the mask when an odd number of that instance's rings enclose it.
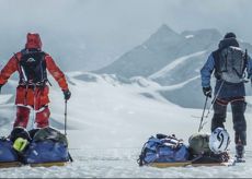
<instances>
[{"instance_id":1,"label":"raised red hood on the head of the left person","mask_svg":"<svg viewBox=\"0 0 252 179\"><path fill-rule=\"evenodd\" d=\"M32 34L28 33L26 36L26 44L25 44L26 49L42 49L42 40L39 37L39 34Z\"/></svg>"}]
</instances>

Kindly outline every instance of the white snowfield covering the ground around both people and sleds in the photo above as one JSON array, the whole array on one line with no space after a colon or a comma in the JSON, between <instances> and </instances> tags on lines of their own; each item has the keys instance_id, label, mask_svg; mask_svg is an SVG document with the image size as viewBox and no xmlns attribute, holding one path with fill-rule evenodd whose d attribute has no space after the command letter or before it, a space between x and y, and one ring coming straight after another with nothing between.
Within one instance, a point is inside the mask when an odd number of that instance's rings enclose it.
<instances>
[{"instance_id":1,"label":"white snowfield covering the ground around both people and sleds","mask_svg":"<svg viewBox=\"0 0 252 179\"><path fill-rule=\"evenodd\" d=\"M96 82L77 80L78 73L69 75L72 97L68 102L68 140L73 163L65 167L0 169L1 178L228 178L250 177L251 143L247 147L247 163L234 167L139 167L137 158L144 143L156 133L176 134L187 144L187 139L197 132L202 110L181 108L163 99L157 93L157 84L136 77L135 82L116 83L114 76L96 75ZM115 85L116 84L116 85ZM145 84L145 85L141 85ZM148 84L148 85L146 85ZM151 97L147 97L149 94ZM51 118L64 123L62 93L57 85L50 87ZM0 106L2 117L14 116L13 104ZM210 116L213 112L210 114ZM248 136L251 136L251 112L247 112ZM194 118L197 116L198 118ZM203 132L209 132L210 119ZM11 124L4 126L7 134ZM228 114L227 130L233 139L231 114ZM4 133L5 132L5 133ZM64 131L62 131L64 132ZM233 153L233 140L230 150ZM242 172L241 172L242 171Z\"/></svg>"}]
</instances>

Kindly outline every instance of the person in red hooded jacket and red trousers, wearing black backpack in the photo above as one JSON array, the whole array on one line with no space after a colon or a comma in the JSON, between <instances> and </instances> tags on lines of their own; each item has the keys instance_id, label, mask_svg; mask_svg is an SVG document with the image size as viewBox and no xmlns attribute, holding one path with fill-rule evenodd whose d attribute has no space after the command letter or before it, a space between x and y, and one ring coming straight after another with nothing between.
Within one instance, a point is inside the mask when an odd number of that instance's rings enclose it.
<instances>
[{"instance_id":1,"label":"person in red hooded jacket and red trousers, wearing black backpack","mask_svg":"<svg viewBox=\"0 0 252 179\"><path fill-rule=\"evenodd\" d=\"M13 128L26 128L31 109L34 109L36 114L34 121L36 128L49 126L49 87L47 85L49 82L46 70L58 82L65 99L68 100L71 93L64 73L53 58L42 51L39 35L28 33L25 48L14 53L0 72L0 88L7 83L12 73L18 71L20 74L15 98L16 118Z\"/></svg>"}]
</instances>

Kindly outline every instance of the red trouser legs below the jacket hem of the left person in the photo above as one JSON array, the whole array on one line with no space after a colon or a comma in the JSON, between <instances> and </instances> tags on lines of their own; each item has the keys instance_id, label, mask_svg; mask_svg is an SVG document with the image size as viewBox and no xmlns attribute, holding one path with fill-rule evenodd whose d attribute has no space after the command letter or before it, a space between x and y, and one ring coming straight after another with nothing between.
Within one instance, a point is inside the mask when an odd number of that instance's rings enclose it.
<instances>
[{"instance_id":1,"label":"red trouser legs below the jacket hem of the left person","mask_svg":"<svg viewBox=\"0 0 252 179\"><path fill-rule=\"evenodd\" d=\"M16 118L13 127L26 128L28 123L31 109L24 106L16 106ZM36 128L45 128L49 126L50 111L48 106L44 107L42 111L36 112Z\"/></svg>"}]
</instances>

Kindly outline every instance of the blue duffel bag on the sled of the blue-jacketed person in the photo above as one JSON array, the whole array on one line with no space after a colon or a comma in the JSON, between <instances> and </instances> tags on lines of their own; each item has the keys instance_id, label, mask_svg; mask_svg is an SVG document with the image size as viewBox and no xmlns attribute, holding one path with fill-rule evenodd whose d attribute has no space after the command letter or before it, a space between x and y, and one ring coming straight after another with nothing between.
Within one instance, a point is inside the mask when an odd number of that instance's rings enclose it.
<instances>
[{"instance_id":1,"label":"blue duffel bag on the sled of the blue-jacketed person","mask_svg":"<svg viewBox=\"0 0 252 179\"><path fill-rule=\"evenodd\" d=\"M175 135L157 134L145 143L138 164L185 162L188 157L188 148L182 140L177 140Z\"/></svg>"}]
</instances>

